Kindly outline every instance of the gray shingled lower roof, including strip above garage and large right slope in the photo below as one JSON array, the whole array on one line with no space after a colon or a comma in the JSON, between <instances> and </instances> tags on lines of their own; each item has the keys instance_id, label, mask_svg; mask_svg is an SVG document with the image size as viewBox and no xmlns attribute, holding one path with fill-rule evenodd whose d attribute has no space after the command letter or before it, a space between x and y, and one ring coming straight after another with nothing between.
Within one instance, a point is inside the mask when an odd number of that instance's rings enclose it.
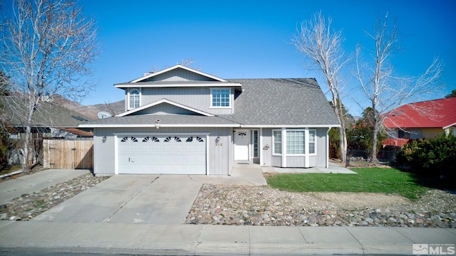
<instances>
[{"instance_id":1,"label":"gray shingled lower roof, including strip above garage and large right slope","mask_svg":"<svg viewBox=\"0 0 456 256\"><path fill-rule=\"evenodd\" d=\"M225 125L248 126L321 126L334 127L339 122L315 79L232 79L228 82L242 84L242 92L236 91L234 114L204 117L185 114L144 114L110 117L83 124L81 127L103 126L154 126Z\"/></svg>"}]
</instances>

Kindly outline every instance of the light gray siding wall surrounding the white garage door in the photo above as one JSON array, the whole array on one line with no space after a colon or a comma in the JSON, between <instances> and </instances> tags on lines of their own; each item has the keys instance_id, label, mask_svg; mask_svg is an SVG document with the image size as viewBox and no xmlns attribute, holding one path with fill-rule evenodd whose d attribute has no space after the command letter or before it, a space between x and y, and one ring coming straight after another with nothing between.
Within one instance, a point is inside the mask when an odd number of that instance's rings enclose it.
<instances>
[{"instance_id":1,"label":"light gray siding wall surrounding the white garage door","mask_svg":"<svg viewBox=\"0 0 456 256\"><path fill-rule=\"evenodd\" d=\"M115 134L192 134L207 133L207 171L209 175L229 175L232 167L231 128L103 128L94 129L94 173L115 174ZM104 138L105 137L105 138ZM219 137L219 139L217 139ZM217 141L217 142L216 142Z\"/></svg>"}]
</instances>

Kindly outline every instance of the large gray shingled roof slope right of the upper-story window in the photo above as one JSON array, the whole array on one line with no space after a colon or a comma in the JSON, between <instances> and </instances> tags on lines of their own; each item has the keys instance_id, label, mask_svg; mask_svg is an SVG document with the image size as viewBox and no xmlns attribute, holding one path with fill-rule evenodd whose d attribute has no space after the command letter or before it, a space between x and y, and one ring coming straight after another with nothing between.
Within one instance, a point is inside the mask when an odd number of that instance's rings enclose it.
<instances>
[{"instance_id":1,"label":"large gray shingled roof slope right of the upper-story window","mask_svg":"<svg viewBox=\"0 0 456 256\"><path fill-rule=\"evenodd\" d=\"M313 78L232 79L242 93L227 119L249 125L339 125L328 100Z\"/></svg>"}]
</instances>

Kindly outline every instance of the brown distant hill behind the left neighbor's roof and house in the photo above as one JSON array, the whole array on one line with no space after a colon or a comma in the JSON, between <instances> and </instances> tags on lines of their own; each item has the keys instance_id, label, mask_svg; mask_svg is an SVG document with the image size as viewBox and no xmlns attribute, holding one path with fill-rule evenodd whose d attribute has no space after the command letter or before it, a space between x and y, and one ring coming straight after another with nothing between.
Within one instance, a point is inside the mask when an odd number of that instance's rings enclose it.
<instances>
[{"instance_id":1,"label":"brown distant hill behind the left neighbor's roof and house","mask_svg":"<svg viewBox=\"0 0 456 256\"><path fill-rule=\"evenodd\" d=\"M86 116L90 119L98 119L98 112L104 111L112 114L113 116L116 114L120 114L125 112L125 100L120 100L118 102L113 103L102 103L96 105L80 105L78 102L74 102L72 100L68 100L65 97L61 97L58 95L53 96L53 102L61 105L63 107L68 108L69 110L73 110Z\"/></svg>"}]
</instances>

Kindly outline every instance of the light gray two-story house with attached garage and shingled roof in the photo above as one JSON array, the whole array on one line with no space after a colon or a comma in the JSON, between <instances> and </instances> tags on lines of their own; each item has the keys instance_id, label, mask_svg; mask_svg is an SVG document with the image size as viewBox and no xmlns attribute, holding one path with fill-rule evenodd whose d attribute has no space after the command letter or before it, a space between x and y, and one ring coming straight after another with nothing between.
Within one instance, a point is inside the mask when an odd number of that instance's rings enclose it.
<instances>
[{"instance_id":1,"label":"light gray two-story house with attached garage and shingled roof","mask_svg":"<svg viewBox=\"0 0 456 256\"><path fill-rule=\"evenodd\" d=\"M224 80L175 65L115 87L125 112L80 125L93 130L97 175L328 167L328 131L340 127L315 79Z\"/></svg>"}]
</instances>

